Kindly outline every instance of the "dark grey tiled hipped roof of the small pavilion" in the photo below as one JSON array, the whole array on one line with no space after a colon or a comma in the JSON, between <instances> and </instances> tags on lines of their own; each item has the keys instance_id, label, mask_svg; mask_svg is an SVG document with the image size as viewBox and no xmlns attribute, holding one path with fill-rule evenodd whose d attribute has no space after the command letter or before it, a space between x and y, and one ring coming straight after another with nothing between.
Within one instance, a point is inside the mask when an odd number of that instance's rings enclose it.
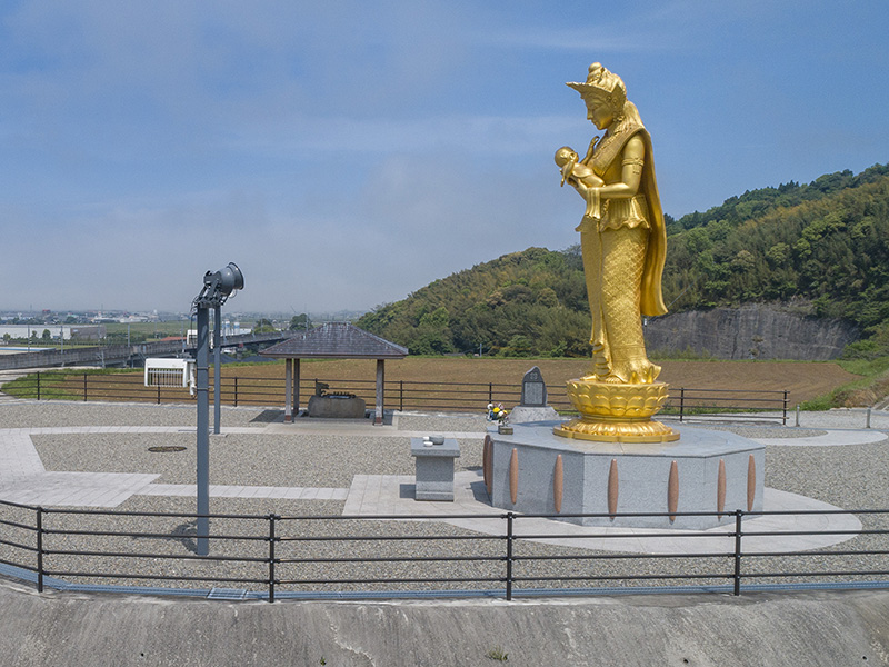
<instances>
[{"instance_id":1,"label":"dark grey tiled hipped roof of the small pavilion","mask_svg":"<svg viewBox=\"0 0 889 667\"><path fill-rule=\"evenodd\" d=\"M259 354L277 359L402 359L408 349L349 322L328 322Z\"/></svg>"}]
</instances>

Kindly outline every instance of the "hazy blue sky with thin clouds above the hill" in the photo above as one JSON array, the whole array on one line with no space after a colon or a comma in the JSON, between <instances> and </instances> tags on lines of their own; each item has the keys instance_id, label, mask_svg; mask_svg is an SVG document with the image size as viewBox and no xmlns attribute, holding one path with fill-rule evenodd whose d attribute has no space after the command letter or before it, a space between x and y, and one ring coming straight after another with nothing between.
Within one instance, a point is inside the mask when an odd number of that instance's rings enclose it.
<instances>
[{"instance_id":1,"label":"hazy blue sky with thin clouds above the hill","mask_svg":"<svg viewBox=\"0 0 889 667\"><path fill-rule=\"evenodd\" d=\"M883 0L0 3L0 309L369 309L576 242L601 61L665 211L889 161Z\"/></svg>"}]
</instances>

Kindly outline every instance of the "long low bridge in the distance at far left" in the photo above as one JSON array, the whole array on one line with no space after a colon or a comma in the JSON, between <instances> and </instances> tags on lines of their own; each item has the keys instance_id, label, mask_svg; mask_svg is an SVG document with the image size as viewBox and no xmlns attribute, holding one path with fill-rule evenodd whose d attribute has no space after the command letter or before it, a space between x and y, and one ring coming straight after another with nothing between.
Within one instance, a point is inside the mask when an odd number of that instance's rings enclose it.
<instances>
[{"instance_id":1,"label":"long low bridge in the distance at far left","mask_svg":"<svg viewBox=\"0 0 889 667\"><path fill-rule=\"evenodd\" d=\"M240 334L223 336L221 347L238 345L271 345L293 336L292 331L273 334ZM182 346L181 340L157 340L138 345L104 345L67 350L40 350L0 355L0 370L47 368L51 366L141 366L149 357L176 357L182 352L194 355L194 346Z\"/></svg>"}]
</instances>

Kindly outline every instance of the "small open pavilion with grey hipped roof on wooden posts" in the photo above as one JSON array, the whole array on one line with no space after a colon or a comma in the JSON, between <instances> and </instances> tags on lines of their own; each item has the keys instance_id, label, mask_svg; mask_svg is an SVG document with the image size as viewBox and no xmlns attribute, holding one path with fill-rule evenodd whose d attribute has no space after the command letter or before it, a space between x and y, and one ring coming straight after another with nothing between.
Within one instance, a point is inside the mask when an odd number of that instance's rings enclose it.
<instances>
[{"instance_id":1,"label":"small open pavilion with grey hipped roof on wooden posts","mask_svg":"<svg viewBox=\"0 0 889 667\"><path fill-rule=\"evenodd\" d=\"M373 422L382 424L386 360L403 359L408 349L349 322L328 322L300 331L259 354L284 360L284 421L292 421L293 415L299 415L300 359L376 359L377 407Z\"/></svg>"}]
</instances>

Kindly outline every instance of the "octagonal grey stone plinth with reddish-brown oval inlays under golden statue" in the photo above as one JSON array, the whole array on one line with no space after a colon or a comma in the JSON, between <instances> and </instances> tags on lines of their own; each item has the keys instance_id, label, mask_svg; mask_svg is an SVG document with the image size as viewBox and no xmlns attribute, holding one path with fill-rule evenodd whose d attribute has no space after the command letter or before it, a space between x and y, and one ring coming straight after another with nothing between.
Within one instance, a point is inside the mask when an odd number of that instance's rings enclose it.
<instances>
[{"instance_id":1,"label":"octagonal grey stone plinth with reddish-brown oval inlays under golden statue","mask_svg":"<svg viewBox=\"0 0 889 667\"><path fill-rule=\"evenodd\" d=\"M559 438L555 426L517 424L512 435L489 429L482 477L493 507L582 526L683 530L731 524L736 509L762 509L765 445L687 426L677 426L676 442L593 444Z\"/></svg>"}]
</instances>

